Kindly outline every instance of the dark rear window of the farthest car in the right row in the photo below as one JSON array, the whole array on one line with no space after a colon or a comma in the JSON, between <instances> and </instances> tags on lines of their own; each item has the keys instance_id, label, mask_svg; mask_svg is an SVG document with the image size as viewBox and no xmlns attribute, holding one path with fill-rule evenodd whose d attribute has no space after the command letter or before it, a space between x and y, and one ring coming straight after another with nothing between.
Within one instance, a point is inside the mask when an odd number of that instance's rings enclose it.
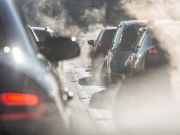
<instances>
[{"instance_id":1,"label":"dark rear window of the farthest car in the right row","mask_svg":"<svg viewBox=\"0 0 180 135\"><path fill-rule=\"evenodd\" d=\"M103 32L100 40L101 41L112 41L113 38L114 38L114 34L115 34L116 30L113 29L113 30L106 30Z\"/></svg>"}]
</instances>

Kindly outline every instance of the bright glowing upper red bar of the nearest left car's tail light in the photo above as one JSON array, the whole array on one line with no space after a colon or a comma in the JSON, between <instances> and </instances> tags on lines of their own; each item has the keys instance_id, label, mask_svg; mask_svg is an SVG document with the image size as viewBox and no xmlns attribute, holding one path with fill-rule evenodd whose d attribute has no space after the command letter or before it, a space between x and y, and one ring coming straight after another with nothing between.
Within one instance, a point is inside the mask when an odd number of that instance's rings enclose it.
<instances>
[{"instance_id":1,"label":"bright glowing upper red bar of the nearest left car's tail light","mask_svg":"<svg viewBox=\"0 0 180 135\"><path fill-rule=\"evenodd\" d=\"M35 106L39 98L33 94L5 93L0 95L0 102L6 106Z\"/></svg>"}]
</instances>

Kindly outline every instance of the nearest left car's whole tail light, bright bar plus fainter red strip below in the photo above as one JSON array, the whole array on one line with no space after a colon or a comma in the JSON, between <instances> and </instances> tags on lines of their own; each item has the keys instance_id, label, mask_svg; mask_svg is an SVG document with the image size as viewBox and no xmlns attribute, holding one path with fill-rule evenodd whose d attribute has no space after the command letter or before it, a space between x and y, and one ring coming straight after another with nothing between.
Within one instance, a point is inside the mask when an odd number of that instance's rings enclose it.
<instances>
[{"instance_id":1,"label":"nearest left car's whole tail light, bright bar plus fainter red strip below","mask_svg":"<svg viewBox=\"0 0 180 135\"><path fill-rule=\"evenodd\" d=\"M3 93L0 94L0 104L5 107L5 111L0 114L0 120L37 119L43 112L40 99L35 94ZM17 111L18 108L21 109Z\"/></svg>"}]
</instances>

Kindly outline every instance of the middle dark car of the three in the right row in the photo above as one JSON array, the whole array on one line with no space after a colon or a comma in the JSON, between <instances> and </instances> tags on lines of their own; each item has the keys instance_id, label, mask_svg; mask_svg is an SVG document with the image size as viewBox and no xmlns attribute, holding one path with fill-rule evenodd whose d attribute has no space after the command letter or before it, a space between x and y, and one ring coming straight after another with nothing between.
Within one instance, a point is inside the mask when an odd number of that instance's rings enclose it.
<instances>
[{"instance_id":1,"label":"middle dark car of the three in the right row","mask_svg":"<svg viewBox=\"0 0 180 135\"><path fill-rule=\"evenodd\" d=\"M101 76L109 83L116 82L125 73L124 63L133 52L134 45L145 28L146 21L129 20L120 22L112 48L105 57Z\"/></svg>"}]
</instances>

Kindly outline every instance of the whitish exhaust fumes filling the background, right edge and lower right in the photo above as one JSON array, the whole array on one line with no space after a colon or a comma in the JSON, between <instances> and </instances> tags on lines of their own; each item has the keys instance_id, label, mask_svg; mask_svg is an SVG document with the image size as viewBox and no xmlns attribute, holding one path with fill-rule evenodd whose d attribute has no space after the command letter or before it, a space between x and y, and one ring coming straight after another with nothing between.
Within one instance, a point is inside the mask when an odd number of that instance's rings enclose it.
<instances>
[{"instance_id":1,"label":"whitish exhaust fumes filling the background, right edge and lower right","mask_svg":"<svg viewBox=\"0 0 180 135\"><path fill-rule=\"evenodd\" d=\"M82 52L79 61L84 67L91 64L92 47L87 45L87 40L96 39L103 26L117 26L121 20L128 18L147 20L148 25L158 23L157 20L170 20L173 26L152 27L161 46L169 53L170 66L152 69L137 78L124 80L123 86L120 82L109 89L115 91L115 98L118 95L118 100L113 101L116 102L113 111L121 132L153 135L180 133L180 25L177 23L180 20L180 1L89 0L84 1L84 6L80 4L83 0L19 1L29 16L30 25L49 26L59 35L79 39ZM99 79L95 76L94 81Z\"/></svg>"}]
</instances>

